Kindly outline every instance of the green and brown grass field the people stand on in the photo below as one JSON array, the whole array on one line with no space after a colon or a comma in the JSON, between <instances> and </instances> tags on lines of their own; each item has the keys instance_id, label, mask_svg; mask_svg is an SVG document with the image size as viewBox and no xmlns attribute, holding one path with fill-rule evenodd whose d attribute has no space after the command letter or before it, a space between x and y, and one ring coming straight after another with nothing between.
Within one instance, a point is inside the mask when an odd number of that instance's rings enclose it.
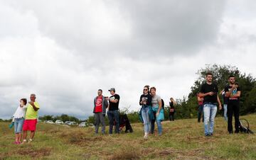
<instances>
[{"instance_id":1,"label":"green and brown grass field the people stand on","mask_svg":"<svg viewBox=\"0 0 256 160\"><path fill-rule=\"evenodd\" d=\"M246 115L256 130L256 115ZM133 133L94 135L94 128L38 123L31 144L16 145L9 123L0 123L0 159L256 159L256 135L228 135L223 118L213 137L203 136L196 119L163 122L164 134L143 139L143 125Z\"/></svg>"}]
</instances>

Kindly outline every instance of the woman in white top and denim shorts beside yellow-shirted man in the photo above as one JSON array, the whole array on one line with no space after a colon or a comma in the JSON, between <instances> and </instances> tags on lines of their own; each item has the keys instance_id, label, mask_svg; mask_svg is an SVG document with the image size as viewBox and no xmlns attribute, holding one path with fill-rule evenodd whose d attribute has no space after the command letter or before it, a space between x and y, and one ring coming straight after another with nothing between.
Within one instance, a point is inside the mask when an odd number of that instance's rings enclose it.
<instances>
[{"instance_id":1,"label":"woman in white top and denim shorts beside yellow-shirted man","mask_svg":"<svg viewBox=\"0 0 256 160\"><path fill-rule=\"evenodd\" d=\"M23 127L24 118L26 115L26 98L22 98L20 105L14 113L14 132L15 132L15 144L21 143L21 132Z\"/></svg>"}]
</instances>

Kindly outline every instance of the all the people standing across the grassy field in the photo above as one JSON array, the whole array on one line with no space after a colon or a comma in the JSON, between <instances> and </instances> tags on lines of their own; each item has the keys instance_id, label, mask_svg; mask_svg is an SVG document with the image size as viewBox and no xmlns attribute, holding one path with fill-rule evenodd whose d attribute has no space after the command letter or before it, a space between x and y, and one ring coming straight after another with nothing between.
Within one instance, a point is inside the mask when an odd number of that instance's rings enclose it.
<instances>
[{"instance_id":1,"label":"all the people standing across the grassy field","mask_svg":"<svg viewBox=\"0 0 256 160\"><path fill-rule=\"evenodd\" d=\"M235 115L235 133L239 132L239 98L240 87L235 83L235 76L228 77L229 85L225 86L222 91L224 97L224 118L228 120L228 132L233 134L232 119ZM110 88L110 97L102 95L102 89L97 91L94 99L93 113L95 113L95 134L98 134L100 123L102 123L102 134L105 134L105 115L110 122L109 134L114 132L119 134L119 101L120 96L115 93L115 88ZM204 133L206 136L212 136L214 130L214 120L217 113L217 104L221 110L222 105L218 97L218 86L213 84L213 74L206 74L206 83L201 86L198 98L198 122L201 120L203 111ZM16 135L15 143L24 144L27 142L27 131L31 131L30 139L32 142L36 132L36 124L38 117L39 104L36 102L36 95L31 94L30 102L27 104L26 98L20 100L20 105L14 113L14 132ZM170 99L169 119L174 120L174 98ZM142 96L139 98L142 120L144 123L144 138L147 139L149 134L154 134L154 124L156 122L158 135L162 135L161 121L164 120L164 101L156 94L156 88L144 86ZM228 116L226 115L228 113ZM23 131L23 137L21 132ZM23 141L21 142L21 139Z\"/></svg>"}]
</instances>

